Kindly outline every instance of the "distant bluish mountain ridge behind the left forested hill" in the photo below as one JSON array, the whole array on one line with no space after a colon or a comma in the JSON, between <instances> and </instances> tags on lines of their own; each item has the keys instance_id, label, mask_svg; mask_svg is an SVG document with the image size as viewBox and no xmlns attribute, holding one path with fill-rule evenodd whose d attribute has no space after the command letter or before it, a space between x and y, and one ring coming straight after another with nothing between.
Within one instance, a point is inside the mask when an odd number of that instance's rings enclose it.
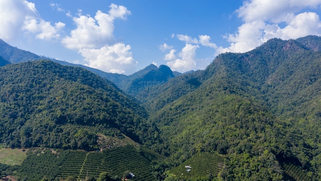
<instances>
[{"instance_id":1,"label":"distant bluish mountain ridge behind the left forested hill","mask_svg":"<svg viewBox=\"0 0 321 181\"><path fill-rule=\"evenodd\" d=\"M19 63L19 62L26 62L26 61L33 61L33 60L51 60L57 62L62 65L68 66L76 66L82 67L87 70L92 71L93 73L108 79L109 81L113 82L118 87L122 88L124 91L131 95L136 95L142 89L162 84L168 81L170 78L180 75L180 73L176 72L175 76L169 67L165 65L160 65L159 68L157 66L151 64L146 68L137 71L136 73L126 76L122 74L112 74L106 73L105 71L87 67L80 64L72 64L66 61L55 60L48 57L41 57L31 53L29 51L21 50L16 47L10 46L6 42L0 39L0 56L4 59L8 60L10 63Z\"/></svg>"}]
</instances>

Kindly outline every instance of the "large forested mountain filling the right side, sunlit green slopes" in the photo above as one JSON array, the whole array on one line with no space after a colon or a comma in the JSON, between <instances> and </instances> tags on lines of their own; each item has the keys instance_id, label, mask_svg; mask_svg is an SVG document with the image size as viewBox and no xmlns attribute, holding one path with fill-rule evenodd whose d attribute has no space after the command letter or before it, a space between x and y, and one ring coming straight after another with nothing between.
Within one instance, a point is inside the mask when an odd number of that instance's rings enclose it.
<instances>
[{"instance_id":1,"label":"large forested mountain filling the right side, sunlit green slopes","mask_svg":"<svg viewBox=\"0 0 321 181\"><path fill-rule=\"evenodd\" d=\"M227 180L283 179L284 162L320 179L320 45L272 39L149 88L140 98L159 137L151 147L177 160L218 151Z\"/></svg>"}]
</instances>

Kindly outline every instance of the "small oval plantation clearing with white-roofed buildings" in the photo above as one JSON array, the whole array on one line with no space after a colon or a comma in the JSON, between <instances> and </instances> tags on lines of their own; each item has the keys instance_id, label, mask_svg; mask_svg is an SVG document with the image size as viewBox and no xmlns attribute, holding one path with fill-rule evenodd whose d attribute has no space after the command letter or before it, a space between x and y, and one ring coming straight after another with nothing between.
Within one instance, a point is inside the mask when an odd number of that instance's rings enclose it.
<instances>
[{"instance_id":1,"label":"small oval plantation clearing with white-roofed buildings","mask_svg":"<svg viewBox=\"0 0 321 181\"><path fill-rule=\"evenodd\" d=\"M197 153L179 166L171 169L169 173L184 179L207 176L211 180L213 177L217 176L223 167L223 156L217 153L204 152Z\"/></svg>"}]
</instances>

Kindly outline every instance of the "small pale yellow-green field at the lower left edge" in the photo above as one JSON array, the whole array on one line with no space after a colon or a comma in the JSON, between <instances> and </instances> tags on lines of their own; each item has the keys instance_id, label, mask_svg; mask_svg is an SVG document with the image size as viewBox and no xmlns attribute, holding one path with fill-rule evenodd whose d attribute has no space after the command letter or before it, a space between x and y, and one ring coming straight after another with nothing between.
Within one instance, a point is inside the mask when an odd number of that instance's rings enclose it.
<instances>
[{"instance_id":1,"label":"small pale yellow-green field at the lower left edge","mask_svg":"<svg viewBox=\"0 0 321 181\"><path fill-rule=\"evenodd\" d=\"M21 165L27 157L27 151L24 149L2 149L0 150L0 164Z\"/></svg>"}]
</instances>

